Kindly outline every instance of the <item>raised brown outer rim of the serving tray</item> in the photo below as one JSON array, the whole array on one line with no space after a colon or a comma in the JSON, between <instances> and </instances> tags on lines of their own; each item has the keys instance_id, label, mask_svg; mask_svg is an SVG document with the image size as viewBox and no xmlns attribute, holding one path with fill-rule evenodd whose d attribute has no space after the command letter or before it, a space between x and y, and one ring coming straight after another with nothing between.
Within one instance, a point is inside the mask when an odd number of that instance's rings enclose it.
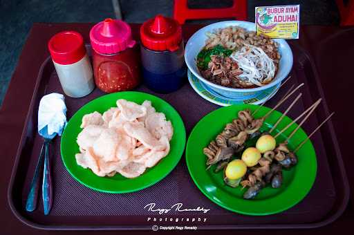
<instances>
[{"instance_id":1,"label":"raised brown outer rim of the serving tray","mask_svg":"<svg viewBox=\"0 0 354 235\"><path fill-rule=\"evenodd\" d=\"M291 44L291 46L297 46L302 53L306 56L306 59L310 62L310 66L312 67L312 70L314 72L315 76L315 82L317 84L317 89L319 91L319 95L322 97L322 106L324 106L324 110L326 112L326 115L329 115L328 111L328 106L326 103L326 99L324 97L324 91L322 88L322 84L319 81L319 75L317 73L317 68L313 62L313 59L311 59L310 55L302 48L301 46L297 44ZM26 121L24 122L24 129L21 133L21 138L19 141L19 147L17 148L17 153L15 157L15 162L12 167L12 172L10 176L10 182L8 185L8 204L10 206L10 209L13 214L15 214L16 218L18 218L22 223L35 228L35 229L40 229L40 230L80 230L80 231L88 231L88 230L151 230L151 225L129 225L129 226L124 226L124 225L102 225L102 226L86 226L86 225L41 225L39 223L34 223L28 218L25 218L20 214L20 212L16 209L13 201L12 201L12 188L14 184L14 178L17 173L17 167L19 165L19 157L21 155L21 149L24 145L25 142L25 135L26 131L28 129L28 122L30 120L30 110L34 106L35 99L39 84L41 83L42 79L42 73L44 71L44 68L47 66L48 63L50 63L51 58L50 56L47 57L47 59L44 60L43 64L41 64L41 67L39 68L39 73L37 76L35 88L33 90L32 98L30 101L30 106L28 107L28 113L26 115ZM334 131L334 126L333 122L331 120L328 120L328 127L329 131L331 133L331 139L332 142L334 143L334 149L336 153L336 160L337 163L339 164L339 167L341 168L341 175L342 175L342 181L344 184L344 198L342 200L342 203L337 207L337 211L332 214L330 217L320 220L319 222L315 223L297 223L297 224L272 224L272 225L257 225L257 224L252 224L252 225L201 225L198 226L198 229L310 229L310 228L318 228L318 227L324 227L325 225L329 225L330 223L333 223L339 216L341 216L344 213L344 210L346 209L346 205L348 204L349 200L349 183L348 183L348 178L346 176L346 171L344 168L344 162L342 160L342 153L340 152L338 141L337 141L337 135L335 135Z\"/></svg>"}]
</instances>

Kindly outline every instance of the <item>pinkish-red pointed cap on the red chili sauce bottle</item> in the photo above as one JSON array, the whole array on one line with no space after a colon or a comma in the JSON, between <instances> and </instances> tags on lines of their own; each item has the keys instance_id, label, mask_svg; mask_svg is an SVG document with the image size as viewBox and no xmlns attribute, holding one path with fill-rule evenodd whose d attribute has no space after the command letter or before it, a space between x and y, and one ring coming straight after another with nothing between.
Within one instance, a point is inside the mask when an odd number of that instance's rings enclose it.
<instances>
[{"instance_id":1,"label":"pinkish-red pointed cap on the red chili sauce bottle","mask_svg":"<svg viewBox=\"0 0 354 235\"><path fill-rule=\"evenodd\" d=\"M92 48L102 54L118 53L136 44L131 38L129 24L118 19L105 19L95 24L90 30L90 40Z\"/></svg>"}]
</instances>

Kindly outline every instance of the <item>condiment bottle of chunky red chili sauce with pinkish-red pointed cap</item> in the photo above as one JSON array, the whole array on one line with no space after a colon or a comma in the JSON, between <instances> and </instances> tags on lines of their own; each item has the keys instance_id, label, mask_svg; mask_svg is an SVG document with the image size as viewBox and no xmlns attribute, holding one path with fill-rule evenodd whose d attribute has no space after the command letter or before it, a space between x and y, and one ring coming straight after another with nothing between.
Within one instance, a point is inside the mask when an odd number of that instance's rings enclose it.
<instances>
[{"instance_id":1,"label":"condiment bottle of chunky red chili sauce with pinkish-red pointed cap","mask_svg":"<svg viewBox=\"0 0 354 235\"><path fill-rule=\"evenodd\" d=\"M140 82L140 57L128 23L105 19L90 31L95 84L106 93L127 91Z\"/></svg>"}]
</instances>

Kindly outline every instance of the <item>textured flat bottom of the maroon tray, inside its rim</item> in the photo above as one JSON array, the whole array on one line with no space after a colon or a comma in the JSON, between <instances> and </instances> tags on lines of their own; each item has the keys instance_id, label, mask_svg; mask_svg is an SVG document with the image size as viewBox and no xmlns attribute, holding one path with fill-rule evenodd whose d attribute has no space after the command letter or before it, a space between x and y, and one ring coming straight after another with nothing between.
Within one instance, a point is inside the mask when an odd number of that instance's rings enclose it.
<instances>
[{"instance_id":1,"label":"textured flat bottom of the maroon tray, inside its rim","mask_svg":"<svg viewBox=\"0 0 354 235\"><path fill-rule=\"evenodd\" d=\"M267 106L274 106L275 101L282 97L292 83L297 84L300 82L297 81L296 78L297 71L292 71L292 77L293 78L290 82L281 88L281 91L268 102ZM178 92L167 95L153 93L144 86L140 86L138 91L144 91L162 97L162 99L174 106L185 122L187 134L189 134L198 120L203 118L203 116L210 111L218 108L215 104L203 100L203 98L192 90L189 84L185 84L185 86L183 86ZM51 75L46 87L46 93L52 92L62 93L62 88L55 73ZM302 92L309 92L309 88L304 87L304 91ZM80 109L82 105L103 94L104 93L96 88L93 93L80 99L66 97L68 118L70 118L77 109ZM301 102L303 104L297 105L297 107L290 112L290 117L294 117L295 113L299 113L303 110L304 100L301 100ZM308 106L308 104L305 105ZM287 104L283 105L283 107L286 106ZM316 122L315 118L311 118L307 123L307 126L314 126ZM333 181L330 177L328 164L326 163L326 153L322 150L323 147L321 146L322 141L320 135L314 136L313 143L317 151L317 158L324 158L324 160L318 160L317 180L313 189L310 191L310 194L308 194L301 203L288 209L286 212L274 216L259 217L243 216L228 212L226 209L218 207L209 201L201 191L198 191L194 182L192 182L192 179L189 177L184 156L176 169L174 169L169 176L158 182L156 185L142 191L131 194L104 194L93 191L80 185L80 183L75 181L66 171L59 153L59 142L60 139L55 138L50 149L54 187L53 208L50 212L50 216L42 216L43 212L41 204L36 212L25 214L30 220L40 221L41 224L49 223L50 225L62 225L63 223L66 223L66 225L80 225L80 223L82 223L84 225L112 225L112 223L117 223L119 221L120 225L122 225L122 223L125 225L143 225L151 224L151 221L148 221L149 218L151 218L151 220L153 220L153 218L156 218L157 220L162 218L160 223L167 224L171 223L170 219L176 221L176 218L179 218L179 221L181 218L189 218L191 222L194 218L194 220L196 220L193 221L194 223L203 223L205 225L310 223L321 220L324 214L330 211L335 202ZM32 169L35 167L41 143L41 138L39 135L36 135L35 140L32 143L33 151L29 161L30 170L26 176L23 198L25 198L28 192ZM319 180L326 183L319 183ZM322 196L319 197L319 195ZM25 202L23 201L22 203L24 207ZM176 203L183 203L183 208L196 208L199 206L210 210L206 214L203 212L176 212L175 210L171 210L167 214L159 215L158 212L149 212L147 208L144 208L149 203L156 203L156 208L169 209ZM205 218L206 221L204 222ZM199 219L201 220L200 222L198 222Z\"/></svg>"}]
</instances>

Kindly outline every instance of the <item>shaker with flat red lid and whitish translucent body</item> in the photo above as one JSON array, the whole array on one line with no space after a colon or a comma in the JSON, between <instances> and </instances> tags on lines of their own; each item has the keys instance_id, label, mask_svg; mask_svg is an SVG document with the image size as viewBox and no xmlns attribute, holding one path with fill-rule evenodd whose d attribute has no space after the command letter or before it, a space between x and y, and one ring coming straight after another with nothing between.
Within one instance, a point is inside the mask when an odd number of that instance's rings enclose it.
<instances>
[{"instance_id":1,"label":"shaker with flat red lid and whitish translucent body","mask_svg":"<svg viewBox=\"0 0 354 235\"><path fill-rule=\"evenodd\" d=\"M83 97L93 91L92 67L80 33L59 32L48 41L48 49L66 95Z\"/></svg>"}]
</instances>

